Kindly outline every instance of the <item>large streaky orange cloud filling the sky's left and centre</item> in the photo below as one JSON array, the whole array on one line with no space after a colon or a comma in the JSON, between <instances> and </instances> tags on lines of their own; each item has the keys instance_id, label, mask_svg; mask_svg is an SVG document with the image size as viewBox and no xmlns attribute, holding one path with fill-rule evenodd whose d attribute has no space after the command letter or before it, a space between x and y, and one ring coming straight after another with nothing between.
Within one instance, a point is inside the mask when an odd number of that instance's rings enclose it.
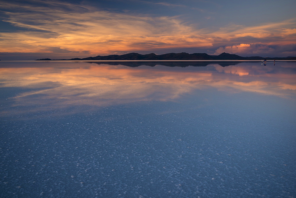
<instances>
[{"instance_id":1,"label":"large streaky orange cloud filling the sky's left and centre","mask_svg":"<svg viewBox=\"0 0 296 198\"><path fill-rule=\"evenodd\" d=\"M12 4L4 6L12 7ZM6 22L39 32L1 33L3 41L0 46L6 52L44 52L59 47L69 51L107 54L147 48L212 46L208 39L198 36L200 31L176 17L112 13L66 3L63 6L75 12L21 4L13 6L30 11L30 14L5 12L9 15ZM77 13L76 10L80 9L87 12Z\"/></svg>"}]
</instances>

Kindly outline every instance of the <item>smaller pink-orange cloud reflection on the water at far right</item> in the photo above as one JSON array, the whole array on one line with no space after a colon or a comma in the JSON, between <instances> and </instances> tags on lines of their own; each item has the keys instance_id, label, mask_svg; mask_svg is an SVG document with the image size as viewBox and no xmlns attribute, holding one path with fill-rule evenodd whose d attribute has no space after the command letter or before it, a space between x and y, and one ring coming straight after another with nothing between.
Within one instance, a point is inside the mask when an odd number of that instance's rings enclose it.
<instances>
[{"instance_id":1,"label":"smaller pink-orange cloud reflection on the water at far right","mask_svg":"<svg viewBox=\"0 0 296 198\"><path fill-rule=\"evenodd\" d=\"M220 73L231 74L231 78L226 77L221 81L221 86L232 88L235 91L256 92L289 98L291 92L296 90L295 75L270 73L274 70L274 67L240 65L221 67L215 65L215 69Z\"/></svg>"}]
</instances>

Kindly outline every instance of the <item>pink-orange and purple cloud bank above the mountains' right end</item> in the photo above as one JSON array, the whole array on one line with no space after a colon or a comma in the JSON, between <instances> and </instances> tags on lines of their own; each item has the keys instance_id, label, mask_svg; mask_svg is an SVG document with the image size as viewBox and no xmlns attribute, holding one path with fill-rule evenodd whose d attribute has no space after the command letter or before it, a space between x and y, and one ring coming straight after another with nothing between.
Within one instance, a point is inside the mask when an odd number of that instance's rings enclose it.
<instances>
[{"instance_id":1,"label":"pink-orange and purple cloud bank above the mountains' right end","mask_svg":"<svg viewBox=\"0 0 296 198\"><path fill-rule=\"evenodd\" d=\"M268 54L287 56L292 54L295 49L292 52L285 51L282 46L295 45L296 34L295 28L293 28L295 24L295 19L291 19L251 27L230 25L220 28L214 32L218 36L214 45L218 47L213 55L226 52L245 56ZM242 41L245 43L238 44ZM234 44L229 45L229 43Z\"/></svg>"}]
</instances>

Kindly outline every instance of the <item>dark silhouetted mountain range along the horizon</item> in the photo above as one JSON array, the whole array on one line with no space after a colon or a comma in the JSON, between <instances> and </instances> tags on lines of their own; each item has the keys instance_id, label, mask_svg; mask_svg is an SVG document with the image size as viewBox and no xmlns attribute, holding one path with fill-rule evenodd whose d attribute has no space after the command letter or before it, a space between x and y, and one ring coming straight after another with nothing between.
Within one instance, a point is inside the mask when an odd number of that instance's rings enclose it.
<instances>
[{"instance_id":1,"label":"dark silhouetted mountain range along the horizon","mask_svg":"<svg viewBox=\"0 0 296 198\"><path fill-rule=\"evenodd\" d=\"M236 54L228 54L223 52L220 55L208 55L206 53L194 53L188 54L185 52L182 53L169 53L156 55L151 54L138 54L138 53L129 53L123 55L109 55L109 56L96 56L96 57L87 57L87 58L72 58L72 59L57 59L57 60L261 60L261 59L277 59L277 60L296 60L296 57L241 57ZM37 59L37 60L52 60L49 58Z\"/></svg>"}]
</instances>

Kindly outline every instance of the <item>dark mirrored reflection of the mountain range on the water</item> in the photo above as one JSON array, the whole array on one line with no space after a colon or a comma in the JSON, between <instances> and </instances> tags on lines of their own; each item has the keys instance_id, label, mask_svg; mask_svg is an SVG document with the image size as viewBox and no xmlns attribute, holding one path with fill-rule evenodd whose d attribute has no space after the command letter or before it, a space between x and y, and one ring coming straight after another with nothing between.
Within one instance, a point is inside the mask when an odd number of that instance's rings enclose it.
<instances>
[{"instance_id":1,"label":"dark mirrored reflection of the mountain range on the water","mask_svg":"<svg viewBox=\"0 0 296 198\"><path fill-rule=\"evenodd\" d=\"M95 63L98 65L124 65L128 67L139 67L141 65L147 65L150 67L155 67L156 65L163 65L167 67L188 67L188 66L193 66L193 67L205 67L207 65L213 65L213 64L218 64L221 65L222 67L227 67L229 65L237 65L240 62L210 62L210 61L205 61L205 62L172 62L172 61L162 61L162 62L149 62L149 61L141 61L141 62L88 62L88 63Z\"/></svg>"}]
</instances>

